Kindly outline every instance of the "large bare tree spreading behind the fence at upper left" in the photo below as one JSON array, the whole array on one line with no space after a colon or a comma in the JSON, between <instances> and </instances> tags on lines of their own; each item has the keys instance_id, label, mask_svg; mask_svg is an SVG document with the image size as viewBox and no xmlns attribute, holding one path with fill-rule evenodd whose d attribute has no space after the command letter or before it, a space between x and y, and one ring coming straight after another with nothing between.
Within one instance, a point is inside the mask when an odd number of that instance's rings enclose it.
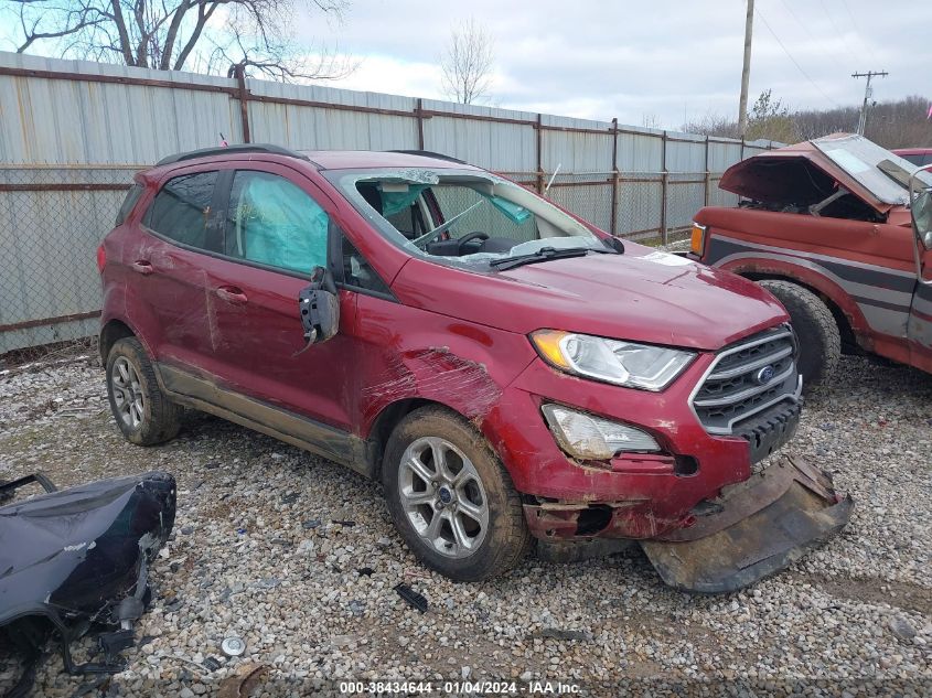
<instances>
[{"instance_id":1,"label":"large bare tree spreading behind the fence at upper left","mask_svg":"<svg viewBox=\"0 0 932 698\"><path fill-rule=\"evenodd\" d=\"M226 73L238 66L283 80L352 69L333 53L300 45L291 30L297 11L339 20L347 1L6 0L18 20L19 53L43 42L63 57L162 71L197 63Z\"/></svg>"}]
</instances>

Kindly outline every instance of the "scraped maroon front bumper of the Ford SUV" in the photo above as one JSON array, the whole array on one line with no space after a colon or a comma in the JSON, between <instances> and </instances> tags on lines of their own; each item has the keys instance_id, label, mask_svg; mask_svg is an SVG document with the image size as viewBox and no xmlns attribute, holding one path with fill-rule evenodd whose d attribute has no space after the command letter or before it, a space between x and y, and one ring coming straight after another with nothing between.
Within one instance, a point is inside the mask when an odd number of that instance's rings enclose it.
<instances>
[{"instance_id":1,"label":"scraped maroon front bumper of the Ford SUV","mask_svg":"<svg viewBox=\"0 0 932 698\"><path fill-rule=\"evenodd\" d=\"M713 358L700 354L663 393L583 380L533 362L503 391L482 426L515 488L525 495L532 533L542 539L656 538L688 525L690 509L700 501L748 480L753 461L792 436L799 410L776 420L762 418L753 449L747 438L708 433L690 409L689 396ZM603 463L575 461L547 427L544 402L643 429L663 452L620 453Z\"/></svg>"}]
</instances>

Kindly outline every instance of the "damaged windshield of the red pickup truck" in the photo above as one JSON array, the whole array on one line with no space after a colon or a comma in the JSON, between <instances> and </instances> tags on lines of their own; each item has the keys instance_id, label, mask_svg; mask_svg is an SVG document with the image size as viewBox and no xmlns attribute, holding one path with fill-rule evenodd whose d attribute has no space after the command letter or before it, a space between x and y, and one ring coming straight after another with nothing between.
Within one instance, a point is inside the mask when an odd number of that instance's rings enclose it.
<instances>
[{"instance_id":1,"label":"damaged windshield of the red pickup truck","mask_svg":"<svg viewBox=\"0 0 932 698\"><path fill-rule=\"evenodd\" d=\"M909 203L909 178L917 170L911 162L863 136L821 138L812 143L879 201L900 205ZM929 173L920 178L932 184Z\"/></svg>"}]
</instances>

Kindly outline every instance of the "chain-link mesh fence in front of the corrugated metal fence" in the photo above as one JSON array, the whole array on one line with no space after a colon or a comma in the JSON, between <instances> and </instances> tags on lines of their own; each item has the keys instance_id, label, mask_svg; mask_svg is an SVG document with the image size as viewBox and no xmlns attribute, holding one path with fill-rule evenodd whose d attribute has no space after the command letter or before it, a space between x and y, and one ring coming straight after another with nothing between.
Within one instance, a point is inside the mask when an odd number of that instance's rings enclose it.
<instances>
[{"instance_id":1,"label":"chain-link mesh fence in front of the corrugated metal fence","mask_svg":"<svg viewBox=\"0 0 932 698\"><path fill-rule=\"evenodd\" d=\"M0 167L0 354L97 332L95 250L139 169ZM547 198L603 230L649 245L688 238L696 211L736 200L706 172L503 174L546 189Z\"/></svg>"}]
</instances>

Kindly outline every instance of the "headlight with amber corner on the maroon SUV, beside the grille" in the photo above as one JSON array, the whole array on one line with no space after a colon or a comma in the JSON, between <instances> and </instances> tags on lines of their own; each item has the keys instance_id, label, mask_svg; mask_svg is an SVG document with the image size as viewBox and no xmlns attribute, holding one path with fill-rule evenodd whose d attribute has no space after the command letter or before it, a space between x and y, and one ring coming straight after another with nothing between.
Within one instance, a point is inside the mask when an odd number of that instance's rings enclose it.
<instances>
[{"instance_id":1,"label":"headlight with amber corner on the maroon SUV, beside the grille","mask_svg":"<svg viewBox=\"0 0 932 698\"><path fill-rule=\"evenodd\" d=\"M644 390L663 390L696 355L557 330L538 330L531 341L540 356L561 371Z\"/></svg>"}]
</instances>

